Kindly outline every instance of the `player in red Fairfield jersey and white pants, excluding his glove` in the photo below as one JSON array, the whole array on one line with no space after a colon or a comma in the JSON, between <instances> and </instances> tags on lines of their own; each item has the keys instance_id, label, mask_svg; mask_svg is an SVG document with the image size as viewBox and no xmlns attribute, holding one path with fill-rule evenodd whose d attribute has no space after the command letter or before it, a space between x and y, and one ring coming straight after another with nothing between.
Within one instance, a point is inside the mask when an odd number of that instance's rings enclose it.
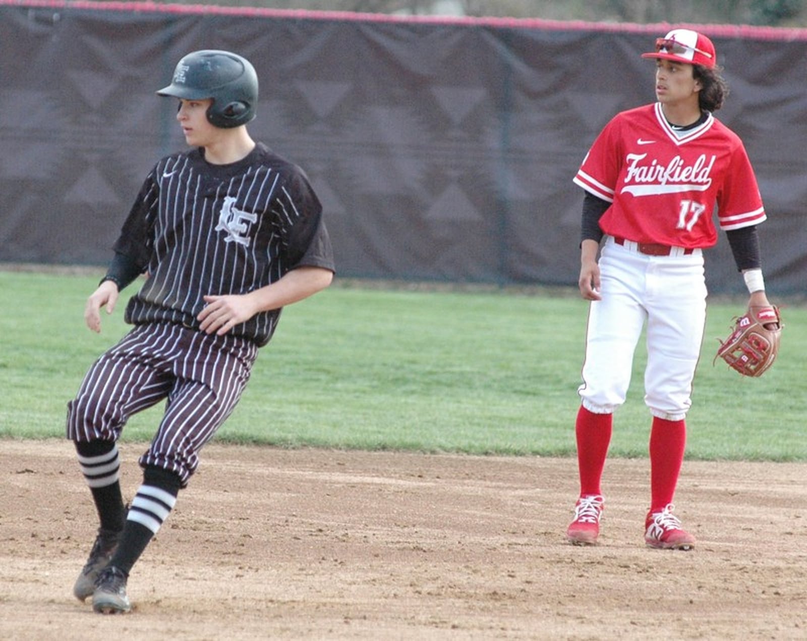
<instances>
[{"instance_id":1,"label":"player in red Fairfield jersey and white pants, excluding his glove","mask_svg":"<svg viewBox=\"0 0 807 641\"><path fill-rule=\"evenodd\" d=\"M645 542L690 550L695 538L672 501L705 325L702 251L717 242L717 207L749 306L773 312L757 237L765 211L742 141L713 115L727 87L711 40L674 29L642 57L655 61L657 102L613 117L574 178L585 190L579 289L592 302L575 423L580 494L567 538L594 544L600 533L613 413L625 402L646 326L652 423Z\"/></svg>"}]
</instances>

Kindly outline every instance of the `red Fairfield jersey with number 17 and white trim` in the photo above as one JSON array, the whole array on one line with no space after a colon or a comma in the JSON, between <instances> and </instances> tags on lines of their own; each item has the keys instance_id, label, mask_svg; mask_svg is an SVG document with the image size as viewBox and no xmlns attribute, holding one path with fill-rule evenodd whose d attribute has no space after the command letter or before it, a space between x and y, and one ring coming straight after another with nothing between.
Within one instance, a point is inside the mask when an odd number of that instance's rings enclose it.
<instances>
[{"instance_id":1,"label":"red Fairfield jersey with number 17 and white trim","mask_svg":"<svg viewBox=\"0 0 807 641\"><path fill-rule=\"evenodd\" d=\"M712 114L676 132L661 103L614 116L574 182L612 203L600 218L603 232L630 241L710 247L717 242L716 205L723 230L766 218L739 136Z\"/></svg>"}]
</instances>

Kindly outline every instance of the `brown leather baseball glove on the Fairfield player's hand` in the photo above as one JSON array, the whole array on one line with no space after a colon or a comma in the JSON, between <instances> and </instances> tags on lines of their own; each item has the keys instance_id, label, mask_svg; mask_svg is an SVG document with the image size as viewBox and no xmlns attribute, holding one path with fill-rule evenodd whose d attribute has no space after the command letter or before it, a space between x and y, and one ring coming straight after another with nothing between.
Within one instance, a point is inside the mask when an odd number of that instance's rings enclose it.
<instances>
[{"instance_id":1,"label":"brown leather baseball glove on the Fairfield player's hand","mask_svg":"<svg viewBox=\"0 0 807 641\"><path fill-rule=\"evenodd\" d=\"M730 336L720 341L714 360L722 358L743 376L763 375L779 354L783 326L779 308L751 307L734 321Z\"/></svg>"}]
</instances>

